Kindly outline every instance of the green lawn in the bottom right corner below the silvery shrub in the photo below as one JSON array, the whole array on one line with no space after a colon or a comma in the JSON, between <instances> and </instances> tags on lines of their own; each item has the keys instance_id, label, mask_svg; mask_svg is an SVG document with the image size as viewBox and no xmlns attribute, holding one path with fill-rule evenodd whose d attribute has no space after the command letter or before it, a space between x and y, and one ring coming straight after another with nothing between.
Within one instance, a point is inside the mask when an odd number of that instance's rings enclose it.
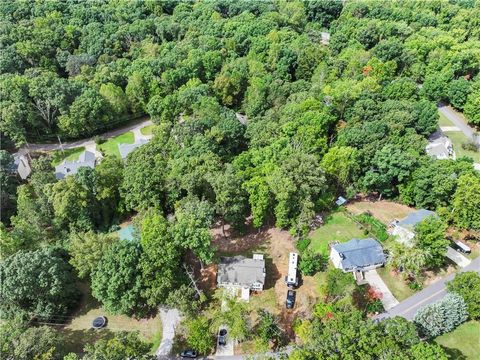
<instances>
[{"instance_id":1,"label":"green lawn in the bottom right corner below the silvery shrub","mask_svg":"<svg viewBox=\"0 0 480 360\"><path fill-rule=\"evenodd\" d=\"M478 359L480 354L480 321L468 321L435 341L446 348L452 359ZM464 356L462 357L459 352Z\"/></svg>"}]
</instances>

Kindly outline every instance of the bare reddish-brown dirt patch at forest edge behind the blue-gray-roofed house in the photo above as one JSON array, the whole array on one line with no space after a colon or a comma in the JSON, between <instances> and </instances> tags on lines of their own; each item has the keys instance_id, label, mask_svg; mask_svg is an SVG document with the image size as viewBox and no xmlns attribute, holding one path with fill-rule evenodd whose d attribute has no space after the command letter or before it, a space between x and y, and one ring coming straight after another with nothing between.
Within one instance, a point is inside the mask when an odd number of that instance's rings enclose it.
<instances>
[{"instance_id":1,"label":"bare reddish-brown dirt patch at forest edge behind the blue-gray-roofed house","mask_svg":"<svg viewBox=\"0 0 480 360\"><path fill-rule=\"evenodd\" d=\"M403 219L414 212L415 208L387 200L359 200L348 204L347 210L354 215L369 211L375 218L388 225L393 219Z\"/></svg>"}]
</instances>

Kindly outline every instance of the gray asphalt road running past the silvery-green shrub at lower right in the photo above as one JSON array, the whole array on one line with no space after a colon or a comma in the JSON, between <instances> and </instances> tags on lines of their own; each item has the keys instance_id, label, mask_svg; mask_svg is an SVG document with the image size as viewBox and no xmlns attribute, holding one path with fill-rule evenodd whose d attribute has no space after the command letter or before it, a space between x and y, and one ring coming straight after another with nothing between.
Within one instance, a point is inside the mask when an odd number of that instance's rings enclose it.
<instances>
[{"instance_id":1,"label":"gray asphalt road running past the silvery-green shrub at lower right","mask_svg":"<svg viewBox=\"0 0 480 360\"><path fill-rule=\"evenodd\" d=\"M472 260L469 265L460 269L459 272L464 271L477 271L480 273L480 257ZM445 283L452 280L455 277L455 274L450 274L436 283L433 283L415 295L410 296L408 299L403 300L400 304L390 309L388 312L377 315L374 319L382 320L394 316L401 316L407 320L412 320L418 309L440 300L445 296L447 293Z\"/></svg>"}]
</instances>

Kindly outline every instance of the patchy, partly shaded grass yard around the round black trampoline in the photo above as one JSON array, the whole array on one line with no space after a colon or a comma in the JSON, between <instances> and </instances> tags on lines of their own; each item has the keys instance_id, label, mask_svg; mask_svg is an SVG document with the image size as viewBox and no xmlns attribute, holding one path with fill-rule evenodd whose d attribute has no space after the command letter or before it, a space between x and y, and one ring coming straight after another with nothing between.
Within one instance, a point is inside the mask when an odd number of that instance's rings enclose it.
<instances>
[{"instance_id":1,"label":"patchy, partly shaded grass yard around the round black trampoline","mask_svg":"<svg viewBox=\"0 0 480 360\"><path fill-rule=\"evenodd\" d=\"M162 337L162 322L157 315L150 319L133 319L125 315L110 315L92 297L87 285L81 284L84 298L74 314L73 319L60 331L66 338L65 347L68 351L81 353L87 343L93 343L102 338L110 338L118 331L138 331L140 337L151 343L152 353L158 348ZM93 330L92 320L104 315L108 324L104 329Z\"/></svg>"}]
</instances>

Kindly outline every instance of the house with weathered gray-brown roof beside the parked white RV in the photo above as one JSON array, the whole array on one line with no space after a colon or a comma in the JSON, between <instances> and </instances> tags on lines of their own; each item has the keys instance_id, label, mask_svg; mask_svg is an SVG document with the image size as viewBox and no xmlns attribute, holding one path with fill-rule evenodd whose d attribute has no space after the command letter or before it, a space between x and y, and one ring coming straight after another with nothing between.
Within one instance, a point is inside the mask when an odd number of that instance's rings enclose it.
<instances>
[{"instance_id":1,"label":"house with weathered gray-brown roof beside the parked white RV","mask_svg":"<svg viewBox=\"0 0 480 360\"><path fill-rule=\"evenodd\" d=\"M265 285L265 259L261 254L222 257L218 264L217 285L229 289L262 291Z\"/></svg>"}]
</instances>

